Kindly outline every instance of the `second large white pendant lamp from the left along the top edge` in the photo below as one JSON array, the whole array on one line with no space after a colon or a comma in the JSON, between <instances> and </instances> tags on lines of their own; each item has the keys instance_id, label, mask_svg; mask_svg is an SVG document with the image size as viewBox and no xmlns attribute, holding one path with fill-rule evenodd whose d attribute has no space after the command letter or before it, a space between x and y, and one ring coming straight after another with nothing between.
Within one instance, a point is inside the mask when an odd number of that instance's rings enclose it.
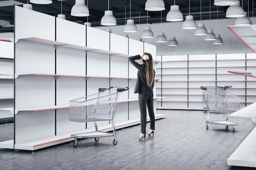
<instances>
[{"instance_id":1,"label":"second large white pendant lamp from the left along the top edge","mask_svg":"<svg viewBox=\"0 0 256 170\"><path fill-rule=\"evenodd\" d=\"M89 16L89 9L85 5L85 0L76 0L74 6L71 9L72 16L86 17Z\"/></svg>"}]
</instances>

